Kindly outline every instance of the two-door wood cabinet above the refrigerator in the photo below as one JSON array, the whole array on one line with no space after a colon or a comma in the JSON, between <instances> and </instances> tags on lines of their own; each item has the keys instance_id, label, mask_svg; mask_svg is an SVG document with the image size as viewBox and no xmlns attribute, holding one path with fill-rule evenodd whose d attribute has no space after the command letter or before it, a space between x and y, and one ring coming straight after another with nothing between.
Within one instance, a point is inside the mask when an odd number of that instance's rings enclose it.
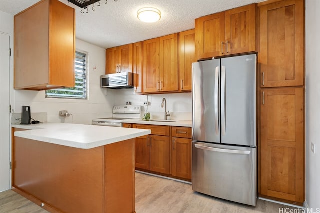
<instances>
[{"instance_id":1,"label":"two-door wood cabinet above the refrigerator","mask_svg":"<svg viewBox=\"0 0 320 213\"><path fill-rule=\"evenodd\" d=\"M255 10L250 4L195 19L197 58L255 51Z\"/></svg>"}]
</instances>

